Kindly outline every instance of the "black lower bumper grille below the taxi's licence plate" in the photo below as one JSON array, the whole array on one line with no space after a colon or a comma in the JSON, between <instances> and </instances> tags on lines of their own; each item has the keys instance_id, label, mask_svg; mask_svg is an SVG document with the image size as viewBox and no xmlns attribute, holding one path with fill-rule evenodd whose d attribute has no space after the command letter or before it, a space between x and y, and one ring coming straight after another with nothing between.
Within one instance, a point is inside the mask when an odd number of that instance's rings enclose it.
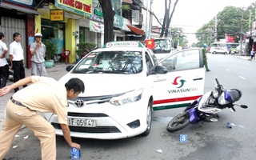
<instances>
[{"instance_id":1,"label":"black lower bumper grille below the taxi's licence plate","mask_svg":"<svg viewBox=\"0 0 256 160\"><path fill-rule=\"evenodd\" d=\"M51 123L55 129L62 130L62 127L59 123ZM81 132L81 133L90 133L90 134L110 134L110 133L121 133L115 126L97 126L97 127L86 127L86 126L69 126L70 131Z\"/></svg>"}]
</instances>

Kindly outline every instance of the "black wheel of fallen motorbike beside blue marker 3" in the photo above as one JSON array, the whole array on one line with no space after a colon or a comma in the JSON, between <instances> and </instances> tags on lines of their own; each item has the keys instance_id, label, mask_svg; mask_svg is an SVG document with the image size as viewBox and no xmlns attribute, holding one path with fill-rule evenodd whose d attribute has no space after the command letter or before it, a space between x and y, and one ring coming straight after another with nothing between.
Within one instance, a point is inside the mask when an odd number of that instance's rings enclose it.
<instances>
[{"instance_id":1,"label":"black wheel of fallen motorbike beside blue marker 3","mask_svg":"<svg viewBox=\"0 0 256 160\"><path fill-rule=\"evenodd\" d=\"M170 122L168 123L167 130L169 132L175 132L178 130L182 130L186 126L189 126L190 120L189 120L189 113L183 112L181 114L178 114L175 116Z\"/></svg>"}]
</instances>

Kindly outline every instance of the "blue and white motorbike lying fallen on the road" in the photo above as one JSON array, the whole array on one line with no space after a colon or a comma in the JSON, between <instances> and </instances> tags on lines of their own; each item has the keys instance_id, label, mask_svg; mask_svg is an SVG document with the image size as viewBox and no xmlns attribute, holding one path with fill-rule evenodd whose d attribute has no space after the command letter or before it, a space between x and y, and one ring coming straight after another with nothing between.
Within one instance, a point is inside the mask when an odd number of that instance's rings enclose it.
<instances>
[{"instance_id":1,"label":"blue and white motorbike lying fallen on the road","mask_svg":"<svg viewBox=\"0 0 256 160\"><path fill-rule=\"evenodd\" d=\"M194 102L187 106L181 114L175 116L168 123L167 130L175 132L182 130L190 124L200 121L217 122L218 113L225 108L235 111L234 106L240 106L246 109L246 105L234 104L242 97L242 92L238 89L226 90L219 84L218 78L215 78L215 90L203 94Z\"/></svg>"}]
</instances>

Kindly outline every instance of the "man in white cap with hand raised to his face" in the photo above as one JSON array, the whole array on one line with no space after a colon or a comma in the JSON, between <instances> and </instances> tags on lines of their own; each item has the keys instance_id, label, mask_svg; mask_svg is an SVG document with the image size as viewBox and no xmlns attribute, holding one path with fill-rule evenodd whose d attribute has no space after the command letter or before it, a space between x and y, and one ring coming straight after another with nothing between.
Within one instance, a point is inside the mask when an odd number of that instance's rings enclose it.
<instances>
[{"instance_id":1,"label":"man in white cap with hand raised to his face","mask_svg":"<svg viewBox=\"0 0 256 160\"><path fill-rule=\"evenodd\" d=\"M30 46L31 57L31 75L47 77L46 74L46 45L42 43L42 34L34 34L35 42Z\"/></svg>"}]
</instances>

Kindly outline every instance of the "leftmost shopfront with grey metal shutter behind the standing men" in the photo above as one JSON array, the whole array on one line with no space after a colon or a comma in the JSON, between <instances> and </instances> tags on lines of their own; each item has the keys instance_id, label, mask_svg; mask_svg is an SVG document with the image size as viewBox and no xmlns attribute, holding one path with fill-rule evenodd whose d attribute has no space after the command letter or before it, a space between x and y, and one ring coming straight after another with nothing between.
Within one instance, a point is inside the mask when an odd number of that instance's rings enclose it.
<instances>
[{"instance_id":1,"label":"leftmost shopfront with grey metal shutter behind the standing men","mask_svg":"<svg viewBox=\"0 0 256 160\"><path fill-rule=\"evenodd\" d=\"M14 41L13 34L18 32L21 34L21 44L24 51L25 66L30 66L31 58L28 53L31 38L34 36L34 16L38 15L34 10L34 1L12 1L2 0L0 2L0 31L5 34L6 46L9 48L10 43ZM32 41L34 38L32 39ZM9 53L6 58L9 57Z\"/></svg>"}]
</instances>

